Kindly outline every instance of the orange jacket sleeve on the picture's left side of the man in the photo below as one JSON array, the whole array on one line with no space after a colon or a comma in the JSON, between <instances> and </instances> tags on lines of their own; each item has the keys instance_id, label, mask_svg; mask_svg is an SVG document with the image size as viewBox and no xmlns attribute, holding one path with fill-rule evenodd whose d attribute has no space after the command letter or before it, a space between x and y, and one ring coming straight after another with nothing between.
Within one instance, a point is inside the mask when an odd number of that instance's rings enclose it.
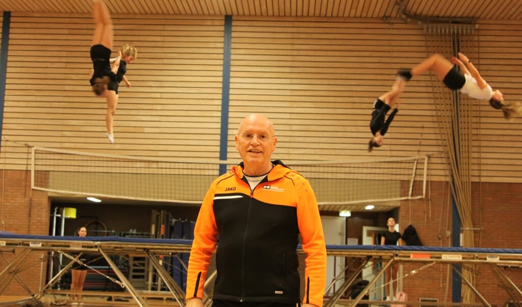
<instances>
[{"instance_id":1,"label":"orange jacket sleeve on the picture's left side of the man","mask_svg":"<svg viewBox=\"0 0 522 307\"><path fill-rule=\"evenodd\" d=\"M216 247L218 228L213 211L215 183L212 183L196 220L194 241L188 259L186 299L203 298L203 289L207 279L210 258Z\"/></svg>"}]
</instances>

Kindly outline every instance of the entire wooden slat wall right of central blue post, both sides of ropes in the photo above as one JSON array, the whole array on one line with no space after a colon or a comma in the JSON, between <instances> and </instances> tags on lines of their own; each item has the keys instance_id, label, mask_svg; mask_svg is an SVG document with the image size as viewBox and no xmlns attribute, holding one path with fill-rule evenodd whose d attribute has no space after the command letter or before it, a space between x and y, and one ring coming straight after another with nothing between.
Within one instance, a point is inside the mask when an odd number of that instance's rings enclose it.
<instances>
[{"instance_id":1,"label":"entire wooden slat wall right of central blue post, both sides of ropes","mask_svg":"<svg viewBox=\"0 0 522 307\"><path fill-rule=\"evenodd\" d=\"M505 84L506 97L520 97L522 72L515 51L520 48L520 26L486 22L479 27L474 62L494 87ZM511 30L499 38L495 33L504 27ZM487 46L488 41L493 46ZM366 151L375 98L390 88L397 69L412 67L432 53L422 26L378 19L236 17L232 47L230 132L235 133L245 113L268 113L278 127L276 157L291 163L443 150L431 77L426 74L408 83L385 145L371 154ZM504 50L506 54L496 56ZM483 157L472 163L473 180L519 182L520 120L507 122L487 101L475 103L477 121L485 123L474 134L474 156ZM485 135L478 133L483 129ZM485 159L484 149L503 152L502 161ZM231 146L229 156L234 155ZM431 167L442 180L444 159L435 158Z\"/></svg>"}]
</instances>

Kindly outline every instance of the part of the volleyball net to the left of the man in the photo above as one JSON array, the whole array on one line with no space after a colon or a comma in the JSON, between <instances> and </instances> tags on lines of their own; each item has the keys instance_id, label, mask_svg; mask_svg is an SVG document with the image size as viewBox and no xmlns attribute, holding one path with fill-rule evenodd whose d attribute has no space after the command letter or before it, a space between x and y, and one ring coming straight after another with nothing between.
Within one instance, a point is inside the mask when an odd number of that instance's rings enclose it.
<instances>
[{"instance_id":1,"label":"part of the volleyball net to the left of the man","mask_svg":"<svg viewBox=\"0 0 522 307\"><path fill-rule=\"evenodd\" d=\"M220 161L168 161L34 147L36 190L154 202L200 204ZM227 166L229 168L229 166Z\"/></svg>"}]
</instances>

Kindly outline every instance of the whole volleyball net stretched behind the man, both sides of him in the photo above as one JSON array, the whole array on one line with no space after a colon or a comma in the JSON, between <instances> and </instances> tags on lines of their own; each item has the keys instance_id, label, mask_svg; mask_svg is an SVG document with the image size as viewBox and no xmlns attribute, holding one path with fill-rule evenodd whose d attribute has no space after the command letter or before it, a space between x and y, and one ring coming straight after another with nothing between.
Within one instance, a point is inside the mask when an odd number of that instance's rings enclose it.
<instances>
[{"instance_id":1,"label":"whole volleyball net stretched behind the man, both sides of him","mask_svg":"<svg viewBox=\"0 0 522 307\"><path fill-rule=\"evenodd\" d=\"M288 163L308 179L322 210L425 196L430 156ZM61 194L199 205L238 161L175 161L32 147L31 187ZM395 204L396 206L397 204Z\"/></svg>"}]
</instances>

